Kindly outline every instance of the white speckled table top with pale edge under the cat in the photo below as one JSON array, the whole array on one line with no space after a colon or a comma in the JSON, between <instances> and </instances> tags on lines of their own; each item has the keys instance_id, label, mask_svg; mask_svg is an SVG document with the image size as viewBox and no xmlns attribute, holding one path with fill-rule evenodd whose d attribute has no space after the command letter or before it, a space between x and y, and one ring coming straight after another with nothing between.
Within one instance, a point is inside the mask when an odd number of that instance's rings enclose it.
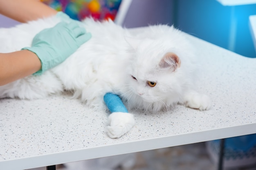
<instances>
[{"instance_id":1,"label":"white speckled table top with pale edge under the cat","mask_svg":"<svg viewBox=\"0 0 256 170\"><path fill-rule=\"evenodd\" d=\"M133 111L132 130L111 139L107 113L70 94L40 100L0 99L0 167L22 170L84 159L256 133L256 59L187 35L198 52L198 87L213 107L177 105L157 114Z\"/></svg>"}]
</instances>

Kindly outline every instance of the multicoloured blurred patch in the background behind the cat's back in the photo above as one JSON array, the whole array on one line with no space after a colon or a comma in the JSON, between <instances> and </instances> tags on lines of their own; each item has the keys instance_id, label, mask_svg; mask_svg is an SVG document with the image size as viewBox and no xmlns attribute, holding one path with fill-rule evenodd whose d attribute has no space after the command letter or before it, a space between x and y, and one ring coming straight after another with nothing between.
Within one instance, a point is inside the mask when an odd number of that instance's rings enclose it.
<instances>
[{"instance_id":1,"label":"multicoloured blurred patch in the background behind the cat's back","mask_svg":"<svg viewBox=\"0 0 256 170\"><path fill-rule=\"evenodd\" d=\"M41 0L74 20L93 17L94 20L115 20L121 0Z\"/></svg>"}]
</instances>

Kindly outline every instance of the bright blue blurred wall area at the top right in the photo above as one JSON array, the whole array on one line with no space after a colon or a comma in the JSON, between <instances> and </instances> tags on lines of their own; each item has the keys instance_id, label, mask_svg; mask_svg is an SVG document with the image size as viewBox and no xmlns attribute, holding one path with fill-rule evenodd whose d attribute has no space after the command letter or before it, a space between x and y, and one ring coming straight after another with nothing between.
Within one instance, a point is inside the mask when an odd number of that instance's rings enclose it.
<instances>
[{"instance_id":1,"label":"bright blue blurred wall area at the top right","mask_svg":"<svg viewBox=\"0 0 256 170\"><path fill-rule=\"evenodd\" d=\"M174 3L177 28L243 56L256 57L249 30L249 15L256 15L256 4L231 7L216 0Z\"/></svg>"}]
</instances>

